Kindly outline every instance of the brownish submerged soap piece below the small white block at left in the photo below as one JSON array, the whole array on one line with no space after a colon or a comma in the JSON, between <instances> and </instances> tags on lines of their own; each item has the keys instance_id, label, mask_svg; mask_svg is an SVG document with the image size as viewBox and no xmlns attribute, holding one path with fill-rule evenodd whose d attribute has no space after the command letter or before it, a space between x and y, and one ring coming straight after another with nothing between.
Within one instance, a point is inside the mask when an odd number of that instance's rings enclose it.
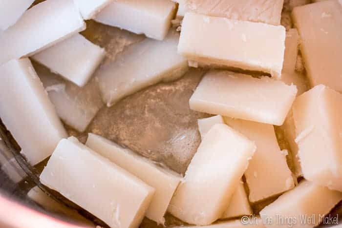
<instances>
[{"instance_id":1,"label":"brownish submerged soap piece below the small white block at left","mask_svg":"<svg viewBox=\"0 0 342 228\"><path fill-rule=\"evenodd\" d=\"M49 69L34 64L58 116L65 124L84 132L101 107L104 106L98 84L92 80L84 87L70 83Z\"/></svg>"}]
</instances>

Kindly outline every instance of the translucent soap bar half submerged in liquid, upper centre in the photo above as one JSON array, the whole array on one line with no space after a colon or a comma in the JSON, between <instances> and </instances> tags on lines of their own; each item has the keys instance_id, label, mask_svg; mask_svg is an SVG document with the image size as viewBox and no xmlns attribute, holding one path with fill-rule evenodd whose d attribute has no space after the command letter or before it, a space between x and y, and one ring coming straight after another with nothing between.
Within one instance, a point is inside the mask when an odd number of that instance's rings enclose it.
<instances>
[{"instance_id":1,"label":"translucent soap bar half submerged in liquid, upper centre","mask_svg":"<svg viewBox=\"0 0 342 228\"><path fill-rule=\"evenodd\" d=\"M132 44L115 62L101 66L96 77L107 106L144 87L181 77L188 62L177 54L178 38L170 34L164 41Z\"/></svg>"}]
</instances>

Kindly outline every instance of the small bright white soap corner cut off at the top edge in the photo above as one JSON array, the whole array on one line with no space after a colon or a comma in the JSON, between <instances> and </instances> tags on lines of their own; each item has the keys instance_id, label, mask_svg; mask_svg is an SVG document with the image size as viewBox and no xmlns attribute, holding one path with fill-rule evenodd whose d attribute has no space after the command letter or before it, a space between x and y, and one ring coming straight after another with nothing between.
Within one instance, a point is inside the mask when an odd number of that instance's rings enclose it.
<instances>
[{"instance_id":1,"label":"small bright white soap corner cut off at the top edge","mask_svg":"<svg viewBox=\"0 0 342 228\"><path fill-rule=\"evenodd\" d=\"M112 0L74 0L84 20L93 19Z\"/></svg>"}]
</instances>

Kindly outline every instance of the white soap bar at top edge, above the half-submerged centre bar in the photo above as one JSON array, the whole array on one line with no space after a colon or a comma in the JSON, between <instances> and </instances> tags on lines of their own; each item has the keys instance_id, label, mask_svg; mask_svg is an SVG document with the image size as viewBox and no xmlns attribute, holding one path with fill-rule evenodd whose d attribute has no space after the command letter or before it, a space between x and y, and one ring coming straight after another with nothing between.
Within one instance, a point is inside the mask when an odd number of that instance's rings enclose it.
<instances>
[{"instance_id":1,"label":"white soap bar at top edge, above the half-submerged centre bar","mask_svg":"<svg viewBox=\"0 0 342 228\"><path fill-rule=\"evenodd\" d=\"M171 0L115 0L94 19L136 34L163 40L176 9Z\"/></svg>"}]
</instances>

